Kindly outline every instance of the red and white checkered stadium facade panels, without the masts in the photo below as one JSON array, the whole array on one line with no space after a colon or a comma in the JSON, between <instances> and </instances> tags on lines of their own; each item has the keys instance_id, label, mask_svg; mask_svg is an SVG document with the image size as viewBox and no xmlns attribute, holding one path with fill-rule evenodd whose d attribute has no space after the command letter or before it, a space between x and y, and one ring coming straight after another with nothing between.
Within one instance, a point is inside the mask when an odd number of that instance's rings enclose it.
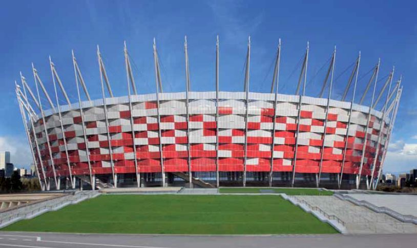
<instances>
[{"instance_id":1,"label":"red and white checkered stadium facade panels, without the masts","mask_svg":"<svg viewBox=\"0 0 417 248\"><path fill-rule=\"evenodd\" d=\"M164 172L295 170L296 173L319 173L321 154L322 173L341 173L346 143L343 173L359 174L363 146L366 143L362 175L371 174L374 153L377 146L380 146L374 170L376 177L381 166L382 154L386 149L384 145L390 121L385 119L384 127L381 127L382 113L371 110L370 121L367 123L369 107L354 104L349 125L350 102L337 100L330 100L325 119L327 99L301 97L300 108L300 96L279 94L275 107L274 94L249 93L246 102L244 92L219 92L217 102L216 92L190 92L187 106L185 92L160 93L159 123L156 94L133 95L132 109L129 107L128 97L107 98L109 128L106 126L102 100L85 101L82 102L82 109L88 150L78 105L72 105L71 109L61 106L62 120L57 112L45 111L56 176L69 175L66 147L60 126L62 121L72 175L90 175L88 157L92 174L112 174L110 154L114 161L114 173L117 174L161 172L161 159ZM37 144L45 175L52 178L52 162L43 125L39 115L35 122ZM381 131L380 143L377 144ZM31 140L35 149L33 135ZM133 146L136 146L137 168ZM36 154L35 157L41 171L39 156ZM40 173L40 177L44 176Z\"/></svg>"}]
</instances>

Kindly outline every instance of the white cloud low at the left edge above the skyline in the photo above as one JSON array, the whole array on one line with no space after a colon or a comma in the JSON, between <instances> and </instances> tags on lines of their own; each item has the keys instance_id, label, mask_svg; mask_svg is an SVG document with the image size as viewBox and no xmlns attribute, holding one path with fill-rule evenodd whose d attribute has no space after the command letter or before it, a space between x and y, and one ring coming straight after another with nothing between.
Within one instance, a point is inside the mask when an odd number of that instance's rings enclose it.
<instances>
[{"instance_id":1,"label":"white cloud low at the left edge above the skyline","mask_svg":"<svg viewBox=\"0 0 417 248\"><path fill-rule=\"evenodd\" d=\"M0 136L0 151L9 151L14 166L29 168L33 163L27 138Z\"/></svg>"}]
</instances>

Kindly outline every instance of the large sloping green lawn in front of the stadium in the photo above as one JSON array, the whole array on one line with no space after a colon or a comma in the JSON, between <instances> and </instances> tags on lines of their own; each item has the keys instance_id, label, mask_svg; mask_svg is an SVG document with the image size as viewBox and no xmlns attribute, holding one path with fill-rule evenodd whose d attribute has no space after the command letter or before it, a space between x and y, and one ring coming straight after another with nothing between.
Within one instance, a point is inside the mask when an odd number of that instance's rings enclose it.
<instances>
[{"instance_id":1,"label":"large sloping green lawn in front of the stadium","mask_svg":"<svg viewBox=\"0 0 417 248\"><path fill-rule=\"evenodd\" d=\"M329 224L272 195L101 195L2 231L126 234L329 234Z\"/></svg>"}]
</instances>

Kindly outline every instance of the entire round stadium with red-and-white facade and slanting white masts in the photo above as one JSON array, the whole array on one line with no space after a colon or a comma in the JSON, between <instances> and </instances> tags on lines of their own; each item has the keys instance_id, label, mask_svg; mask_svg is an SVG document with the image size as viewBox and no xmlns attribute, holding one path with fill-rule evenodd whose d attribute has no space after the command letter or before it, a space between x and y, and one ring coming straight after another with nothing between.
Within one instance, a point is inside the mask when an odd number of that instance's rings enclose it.
<instances>
[{"instance_id":1,"label":"entire round stadium with red-and-white facade and slanting white masts","mask_svg":"<svg viewBox=\"0 0 417 248\"><path fill-rule=\"evenodd\" d=\"M54 100L34 67L35 93L21 74L16 95L43 190L86 183L92 189L166 185L377 187L402 92L401 77L392 83L393 70L376 92L378 61L361 99L355 102L359 98L359 54L343 96L333 99L335 48L319 96L306 96L307 45L297 91L280 94L280 42L271 92L249 92L249 39L244 91L222 92L218 40L216 47L213 92L190 90L186 39L185 92L162 92L155 41L154 94L138 94L126 44L127 96L113 95L98 47L101 99L90 98L74 54L76 103L70 102L51 59ZM59 103L58 91L66 105ZM86 100L81 100L82 92ZM348 92L352 93L350 100ZM367 94L371 100L365 106ZM383 107L377 110L379 101Z\"/></svg>"}]
</instances>

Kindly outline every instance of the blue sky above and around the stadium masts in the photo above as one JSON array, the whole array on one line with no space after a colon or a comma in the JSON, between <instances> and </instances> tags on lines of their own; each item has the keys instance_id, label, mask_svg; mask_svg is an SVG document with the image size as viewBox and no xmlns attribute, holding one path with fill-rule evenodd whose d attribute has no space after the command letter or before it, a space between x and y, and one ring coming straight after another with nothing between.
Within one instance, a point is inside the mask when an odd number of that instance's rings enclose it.
<instances>
[{"instance_id":1,"label":"blue sky above and around the stadium masts","mask_svg":"<svg viewBox=\"0 0 417 248\"><path fill-rule=\"evenodd\" d=\"M0 150L12 162L30 163L14 94L19 71L33 85L31 63L52 94L48 56L76 101L71 61L74 49L92 98L100 98L96 46L116 96L127 94L123 40L134 64L139 93L155 92L152 39L156 38L164 91L185 89L183 40L187 35L194 91L215 89L215 43L220 37L220 90L243 88L247 37L252 39L251 91L267 92L272 63L282 38L280 93L293 94L299 61L310 42L306 93L317 96L333 47L337 46L335 88L340 97L351 64L362 52L360 75L381 57L380 78L395 66L404 93L385 171L417 167L417 4L412 1L8 1L0 9ZM291 73L293 72L294 73ZM365 88L364 77L358 92ZM383 80L378 82L380 89ZM357 98L358 100L359 98ZM44 99L45 100L45 99ZM367 97L365 102L369 102ZM44 105L47 102L44 101ZM380 108L380 107L379 107Z\"/></svg>"}]
</instances>

